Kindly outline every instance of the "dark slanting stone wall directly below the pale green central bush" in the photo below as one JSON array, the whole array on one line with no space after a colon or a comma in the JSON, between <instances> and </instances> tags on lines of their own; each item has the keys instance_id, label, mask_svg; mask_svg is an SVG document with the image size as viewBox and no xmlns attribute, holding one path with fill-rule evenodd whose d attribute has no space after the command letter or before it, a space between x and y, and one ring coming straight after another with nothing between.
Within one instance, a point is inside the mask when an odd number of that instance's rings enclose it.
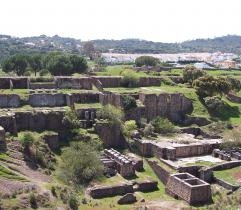
<instances>
[{"instance_id":1,"label":"dark slanting stone wall directly below the pale green central bush","mask_svg":"<svg viewBox=\"0 0 241 210\"><path fill-rule=\"evenodd\" d=\"M96 122L95 130L103 141L105 148L124 147L126 145L120 128L115 125L110 125L108 122Z\"/></svg>"}]
</instances>

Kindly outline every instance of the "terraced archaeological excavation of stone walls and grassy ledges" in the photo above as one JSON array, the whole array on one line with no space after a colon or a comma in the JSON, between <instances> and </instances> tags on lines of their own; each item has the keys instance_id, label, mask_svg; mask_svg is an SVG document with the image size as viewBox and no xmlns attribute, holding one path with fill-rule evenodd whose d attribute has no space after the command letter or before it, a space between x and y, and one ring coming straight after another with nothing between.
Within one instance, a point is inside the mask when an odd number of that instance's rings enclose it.
<instances>
[{"instance_id":1,"label":"terraced archaeological excavation of stone walls and grassy ledges","mask_svg":"<svg viewBox=\"0 0 241 210\"><path fill-rule=\"evenodd\" d=\"M103 173L77 196L81 210L198 208L216 202L214 188L239 190L241 148L223 148L222 136L209 132L213 121L195 114L199 102L189 97L194 92L169 91L160 77L140 77L135 89L121 81L121 76L0 77L3 201L17 197L24 206L26 194L34 191L39 206L46 200L67 205L69 186L58 184L56 174L72 141L92 141L93 147L101 142ZM178 86L182 80L173 82ZM110 116L119 116L118 110L120 120ZM169 133L163 133L165 126L156 129L158 120L170 124ZM21 141L26 133L41 141Z\"/></svg>"}]
</instances>

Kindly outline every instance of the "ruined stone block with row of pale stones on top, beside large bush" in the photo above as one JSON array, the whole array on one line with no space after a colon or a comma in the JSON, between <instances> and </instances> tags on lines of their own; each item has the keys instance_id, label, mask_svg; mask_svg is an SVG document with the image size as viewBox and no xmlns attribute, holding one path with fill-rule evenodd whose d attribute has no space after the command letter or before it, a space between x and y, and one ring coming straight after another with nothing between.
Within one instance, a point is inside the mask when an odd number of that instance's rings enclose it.
<instances>
[{"instance_id":1,"label":"ruined stone block with row of pale stones on top, beside large bush","mask_svg":"<svg viewBox=\"0 0 241 210\"><path fill-rule=\"evenodd\" d=\"M105 149L104 156L110 160L102 159L104 165L110 166L111 164L121 176L132 177L135 175L134 163L129 157L122 155L114 149Z\"/></svg>"}]
</instances>

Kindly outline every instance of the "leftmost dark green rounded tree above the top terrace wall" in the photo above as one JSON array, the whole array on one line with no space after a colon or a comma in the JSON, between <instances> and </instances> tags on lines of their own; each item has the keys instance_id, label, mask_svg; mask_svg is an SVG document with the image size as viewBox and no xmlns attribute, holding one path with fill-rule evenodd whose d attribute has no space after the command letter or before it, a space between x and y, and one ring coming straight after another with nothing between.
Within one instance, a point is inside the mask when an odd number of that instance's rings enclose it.
<instances>
[{"instance_id":1,"label":"leftmost dark green rounded tree above the top terrace wall","mask_svg":"<svg viewBox=\"0 0 241 210\"><path fill-rule=\"evenodd\" d=\"M22 54L16 54L5 59L2 64L4 72L14 72L18 76L24 74L28 67L28 58Z\"/></svg>"}]
</instances>

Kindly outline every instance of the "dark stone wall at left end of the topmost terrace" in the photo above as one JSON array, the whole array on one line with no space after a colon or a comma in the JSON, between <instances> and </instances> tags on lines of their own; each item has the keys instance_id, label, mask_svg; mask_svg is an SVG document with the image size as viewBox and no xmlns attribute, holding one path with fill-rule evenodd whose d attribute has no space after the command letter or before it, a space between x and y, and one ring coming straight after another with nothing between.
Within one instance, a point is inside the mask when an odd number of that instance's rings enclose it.
<instances>
[{"instance_id":1,"label":"dark stone wall at left end of the topmost terrace","mask_svg":"<svg viewBox=\"0 0 241 210\"><path fill-rule=\"evenodd\" d=\"M10 80L14 89L27 89L27 77L0 77L0 89L10 89Z\"/></svg>"}]
</instances>

